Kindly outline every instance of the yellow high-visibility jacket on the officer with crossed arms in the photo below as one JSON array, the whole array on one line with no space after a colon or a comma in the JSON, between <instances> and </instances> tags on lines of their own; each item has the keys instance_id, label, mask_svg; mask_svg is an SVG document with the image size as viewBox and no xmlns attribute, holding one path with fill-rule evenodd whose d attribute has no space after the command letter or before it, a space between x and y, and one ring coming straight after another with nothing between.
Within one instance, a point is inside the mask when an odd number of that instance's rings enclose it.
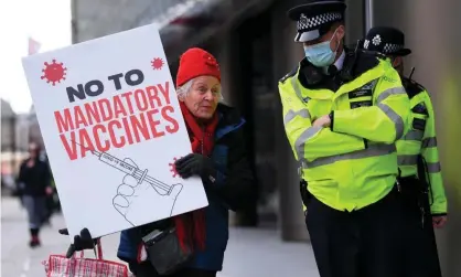
<instances>
[{"instance_id":1,"label":"yellow high-visibility jacket on the officer with crossed arms","mask_svg":"<svg viewBox=\"0 0 461 277\"><path fill-rule=\"evenodd\" d=\"M390 192L398 175L395 141L408 130L409 99L390 63L361 56L355 67L351 82L334 86L319 82L304 58L279 82L285 130L308 190L340 211ZM312 126L331 111L331 128Z\"/></svg>"}]
</instances>

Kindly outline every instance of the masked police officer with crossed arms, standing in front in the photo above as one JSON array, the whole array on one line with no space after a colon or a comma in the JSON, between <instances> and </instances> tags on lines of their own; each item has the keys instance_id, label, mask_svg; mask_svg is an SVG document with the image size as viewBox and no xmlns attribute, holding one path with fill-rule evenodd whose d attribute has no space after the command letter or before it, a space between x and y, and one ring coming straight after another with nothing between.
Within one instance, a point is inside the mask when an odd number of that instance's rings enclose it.
<instances>
[{"instance_id":1,"label":"masked police officer with crossed arms, standing in front","mask_svg":"<svg viewBox=\"0 0 461 277\"><path fill-rule=\"evenodd\" d=\"M344 47L343 1L289 10L305 57L279 82L285 130L307 184L321 277L397 277L403 225L395 141L409 99L392 64Z\"/></svg>"}]
</instances>

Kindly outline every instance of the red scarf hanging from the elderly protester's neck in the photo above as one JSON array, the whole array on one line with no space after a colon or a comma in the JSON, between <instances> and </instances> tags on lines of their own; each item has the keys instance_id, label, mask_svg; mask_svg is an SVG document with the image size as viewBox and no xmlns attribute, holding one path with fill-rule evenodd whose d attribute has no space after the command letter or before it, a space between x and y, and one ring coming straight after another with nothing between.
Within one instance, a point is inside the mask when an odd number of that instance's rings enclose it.
<instances>
[{"instance_id":1,"label":"red scarf hanging from the elderly protester's neck","mask_svg":"<svg viewBox=\"0 0 461 277\"><path fill-rule=\"evenodd\" d=\"M210 157L214 146L214 132L218 120L217 114L215 113L212 120L201 127L184 103L180 102L180 107L187 127L192 151ZM204 209L174 216L174 224L178 238L183 249L186 249L186 245L192 248L194 246L197 246L200 249L205 248L206 227Z\"/></svg>"}]
</instances>

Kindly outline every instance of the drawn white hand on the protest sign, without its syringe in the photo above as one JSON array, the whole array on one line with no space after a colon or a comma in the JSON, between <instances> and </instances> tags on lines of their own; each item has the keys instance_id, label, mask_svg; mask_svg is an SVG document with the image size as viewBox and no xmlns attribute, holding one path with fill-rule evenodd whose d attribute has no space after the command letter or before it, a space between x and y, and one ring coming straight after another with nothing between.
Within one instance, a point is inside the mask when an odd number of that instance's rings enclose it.
<instances>
[{"instance_id":1,"label":"drawn white hand on the protest sign, without its syringe","mask_svg":"<svg viewBox=\"0 0 461 277\"><path fill-rule=\"evenodd\" d=\"M131 159L125 159L124 162L138 169L138 166ZM139 183L138 180L127 174L122 183L117 189L117 195L114 198L114 207L133 226L146 224L147 206L156 203L158 206L156 214L161 219L170 217L173 213L174 203L182 190L182 184L167 184L153 177L146 177Z\"/></svg>"}]
</instances>

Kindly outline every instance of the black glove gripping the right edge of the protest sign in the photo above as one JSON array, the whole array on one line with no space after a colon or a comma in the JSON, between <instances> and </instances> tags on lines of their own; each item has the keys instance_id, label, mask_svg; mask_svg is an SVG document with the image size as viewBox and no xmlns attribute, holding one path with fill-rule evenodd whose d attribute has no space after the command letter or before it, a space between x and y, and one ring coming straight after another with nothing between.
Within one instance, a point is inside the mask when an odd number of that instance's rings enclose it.
<instances>
[{"instance_id":1,"label":"black glove gripping the right edge of the protest sign","mask_svg":"<svg viewBox=\"0 0 461 277\"><path fill-rule=\"evenodd\" d=\"M176 160L174 166L181 178L187 179L191 175L200 175L212 183L216 180L217 171L214 169L213 160L203 155L190 153Z\"/></svg>"}]
</instances>

